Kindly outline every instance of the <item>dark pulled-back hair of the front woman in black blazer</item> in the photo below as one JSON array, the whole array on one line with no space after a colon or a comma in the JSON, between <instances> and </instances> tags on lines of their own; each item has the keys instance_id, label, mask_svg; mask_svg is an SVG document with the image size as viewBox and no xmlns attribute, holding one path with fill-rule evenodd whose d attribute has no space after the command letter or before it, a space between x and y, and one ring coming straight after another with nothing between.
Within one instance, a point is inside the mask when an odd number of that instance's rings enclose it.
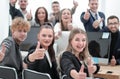
<instances>
[{"instance_id":1,"label":"dark pulled-back hair of the front woman in black blazer","mask_svg":"<svg viewBox=\"0 0 120 79\"><path fill-rule=\"evenodd\" d=\"M53 41L52 43L50 44L50 46L48 47L48 53L50 55L50 58L51 58L51 61L55 61L55 51L54 51L54 48L53 48L53 45L54 45L54 30L53 30L53 27L51 27L51 25L48 25L48 24L43 24L41 27L40 27L40 31L43 29L43 28L46 28L46 29L52 29L53 31Z\"/></svg>"}]
</instances>

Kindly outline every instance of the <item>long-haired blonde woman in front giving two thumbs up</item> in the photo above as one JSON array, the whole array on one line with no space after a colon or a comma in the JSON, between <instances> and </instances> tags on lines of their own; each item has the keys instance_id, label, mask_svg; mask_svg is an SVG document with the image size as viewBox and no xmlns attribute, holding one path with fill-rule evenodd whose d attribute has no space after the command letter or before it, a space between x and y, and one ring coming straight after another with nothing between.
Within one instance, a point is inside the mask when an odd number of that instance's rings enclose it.
<instances>
[{"instance_id":1,"label":"long-haired blonde woman in front giving two thumbs up","mask_svg":"<svg viewBox=\"0 0 120 79\"><path fill-rule=\"evenodd\" d=\"M90 74L95 74L99 66L92 63L88 51L86 32L74 28L69 35L68 46L60 58L60 67L66 79L86 79Z\"/></svg>"}]
</instances>

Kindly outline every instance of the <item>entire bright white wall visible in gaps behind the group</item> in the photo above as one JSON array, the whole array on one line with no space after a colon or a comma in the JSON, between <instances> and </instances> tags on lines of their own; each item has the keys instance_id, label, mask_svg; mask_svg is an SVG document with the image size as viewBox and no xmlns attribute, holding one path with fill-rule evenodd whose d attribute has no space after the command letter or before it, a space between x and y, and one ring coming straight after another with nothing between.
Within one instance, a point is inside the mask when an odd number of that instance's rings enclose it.
<instances>
[{"instance_id":1,"label":"entire bright white wall visible in gaps behind the group","mask_svg":"<svg viewBox=\"0 0 120 79\"><path fill-rule=\"evenodd\" d=\"M48 12L51 12L51 2L55 0L29 0L28 11L31 10L34 16L34 12L37 7L45 6ZM72 8L73 0L57 0L60 2L62 8ZM83 11L86 11L88 7L88 0L76 0L79 3L79 6L76 9L75 14L73 15L73 23L79 25L84 29L81 21L80 14ZM0 2L0 42L8 35L8 26L9 26L9 0L1 0ZM116 15L120 18L120 9L119 9L120 0L99 0L99 10L104 12L106 19L110 15ZM64 5L64 6L63 6ZM16 5L19 8L18 5Z\"/></svg>"}]
</instances>

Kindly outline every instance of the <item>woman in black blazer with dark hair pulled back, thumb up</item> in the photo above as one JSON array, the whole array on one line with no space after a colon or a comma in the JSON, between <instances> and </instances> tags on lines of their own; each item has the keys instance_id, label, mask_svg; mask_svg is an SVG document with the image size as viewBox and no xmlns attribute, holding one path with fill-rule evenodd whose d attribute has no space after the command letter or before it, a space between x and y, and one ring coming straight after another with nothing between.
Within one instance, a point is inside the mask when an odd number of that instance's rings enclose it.
<instances>
[{"instance_id":1,"label":"woman in black blazer with dark hair pulled back, thumb up","mask_svg":"<svg viewBox=\"0 0 120 79\"><path fill-rule=\"evenodd\" d=\"M28 64L28 68L31 70L48 73L52 79L59 79L53 49L54 31L52 26L42 25L37 37L38 43L29 49L24 62Z\"/></svg>"}]
</instances>

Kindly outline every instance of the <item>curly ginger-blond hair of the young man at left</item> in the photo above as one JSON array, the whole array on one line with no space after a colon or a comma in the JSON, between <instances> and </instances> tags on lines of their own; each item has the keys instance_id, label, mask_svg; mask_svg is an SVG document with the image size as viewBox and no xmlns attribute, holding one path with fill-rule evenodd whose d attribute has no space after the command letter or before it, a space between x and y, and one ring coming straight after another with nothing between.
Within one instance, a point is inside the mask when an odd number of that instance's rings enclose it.
<instances>
[{"instance_id":1,"label":"curly ginger-blond hair of the young man at left","mask_svg":"<svg viewBox=\"0 0 120 79\"><path fill-rule=\"evenodd\" d=\"M24 29L26 32L28 32L30 30L30 23L22 17L16 17L12 21L10 30L11 32L14 32L18 29Z\"/></svg>"}]
</instances>

